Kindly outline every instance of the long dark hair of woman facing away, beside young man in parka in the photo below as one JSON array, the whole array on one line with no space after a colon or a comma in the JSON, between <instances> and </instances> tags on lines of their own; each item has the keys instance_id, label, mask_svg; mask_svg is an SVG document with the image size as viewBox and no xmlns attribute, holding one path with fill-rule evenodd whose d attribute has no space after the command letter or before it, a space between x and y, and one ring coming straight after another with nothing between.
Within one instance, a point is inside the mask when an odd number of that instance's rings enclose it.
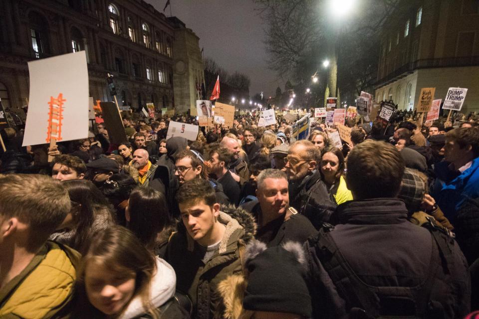
<instances>
[{"instance_id":1,"label":"long dark hair of woman facing away, beside young man in parka","mask_svg":"<svg viewBox=\"0 0 479 319\"><path fill-rule=\"evenodd\" d=\"M157 247L158 234L170 224L163 193L151 187L133 189L126 207L126 220L140 242L150 251Z\"/></svg>"}]
</instances>

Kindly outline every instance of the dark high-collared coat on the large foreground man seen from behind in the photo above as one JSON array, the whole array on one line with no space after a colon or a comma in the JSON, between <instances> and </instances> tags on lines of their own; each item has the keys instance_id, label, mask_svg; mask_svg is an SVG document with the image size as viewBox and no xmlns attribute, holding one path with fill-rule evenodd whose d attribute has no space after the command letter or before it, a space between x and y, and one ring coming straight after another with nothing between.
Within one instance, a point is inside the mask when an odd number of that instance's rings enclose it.
<instances>
[{"instance_id":1,"label":"dark high-collared coat on the large foreground man seen from behind","mask_svg":"<svg viewBox=\"0 0 479 319\"><path fill-rule=\"evenodd\" d=\"M434 308L438 304L443 308L445 318L463 318L469 313L471 302L470 276L464 255L454 240L440 233L451 252L451 261L445 266L430 231L410 223L407 217L408 211L401 199L350 201L338 206L334 214L337 225L328 236L354 273L351 280L357 279L368 287L392 287L390 291L396 292L394 287L420 286L437 269L431 294L425 297L433 301ZM331 274L323 267L319 256L324 250L317 246L319 236L309 238L305 244L313 317L346 318L352 308L361 308L361 305L351 290L336 287ZM391 310L391 306L386 310Z\"/></svg>"}]
</instances>

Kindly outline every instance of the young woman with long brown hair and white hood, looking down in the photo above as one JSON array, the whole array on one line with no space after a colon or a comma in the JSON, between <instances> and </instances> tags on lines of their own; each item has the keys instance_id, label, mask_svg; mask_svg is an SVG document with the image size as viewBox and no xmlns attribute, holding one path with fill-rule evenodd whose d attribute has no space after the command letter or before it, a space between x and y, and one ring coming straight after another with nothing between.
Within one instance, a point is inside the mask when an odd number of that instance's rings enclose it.
<instances>
[{"instance_id":1,"label":"young woman with long brown hair and white hood, looking down","mask_svg":"<svg viewBox=\"0 0 479 319\"><path fill-rule=\"evenodd\" d=\"M80 263L75 318L189 318L175 295L176 276L129 230L98 233ZM144 317L147 316L147 317Z\"/></svg>"}]
</instances>

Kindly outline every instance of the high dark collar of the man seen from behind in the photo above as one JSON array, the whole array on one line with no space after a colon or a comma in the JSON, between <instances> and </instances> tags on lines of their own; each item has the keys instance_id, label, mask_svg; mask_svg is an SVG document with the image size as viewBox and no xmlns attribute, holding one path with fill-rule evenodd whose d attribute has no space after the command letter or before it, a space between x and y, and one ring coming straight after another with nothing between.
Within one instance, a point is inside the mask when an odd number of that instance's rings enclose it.
<instances>
[{"instance_id":1,"label":"high dark collar of the man seen from behind","mask_svg":"<svg viewBox=\"0 0 479 319\"><path fill-rule=\"evenodd\" d=\"M408 218L406 204L399 198L373 198L345 202L336 208L337 224L398 224Z\"/></svg>"}]
</instances>

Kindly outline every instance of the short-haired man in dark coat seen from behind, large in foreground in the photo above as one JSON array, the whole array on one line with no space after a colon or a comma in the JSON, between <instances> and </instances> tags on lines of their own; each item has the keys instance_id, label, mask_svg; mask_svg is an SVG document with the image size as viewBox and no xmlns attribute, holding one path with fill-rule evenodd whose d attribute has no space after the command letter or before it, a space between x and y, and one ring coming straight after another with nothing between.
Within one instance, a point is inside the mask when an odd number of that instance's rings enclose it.
<instances>
[{"instance_id":1,"label":"short-haired man in dark coat seen from behind, large in foreground","mask_svg":"<svg viewBox=\"0 0 479 319\"><path fill-rule=\"evenodd\" d=\"M397 149L365 141L351 151L346 182L354 200L334 227L305 244L314 318L463 318L470 311L468 265L458 244L408 221L396 198L404 173Z\"/></svg>"}]
</instances>

